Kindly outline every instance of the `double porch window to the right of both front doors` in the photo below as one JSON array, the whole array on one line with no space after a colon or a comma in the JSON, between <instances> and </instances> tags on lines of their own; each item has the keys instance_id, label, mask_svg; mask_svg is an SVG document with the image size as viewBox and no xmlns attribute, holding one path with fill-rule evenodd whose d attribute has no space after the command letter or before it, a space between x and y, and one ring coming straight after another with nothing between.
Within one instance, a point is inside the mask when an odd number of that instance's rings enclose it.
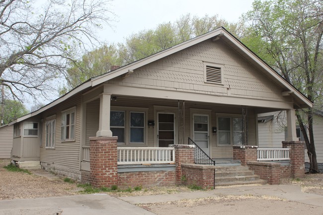
<instances>
[{"instance_id":1,"label":"double porch window to the right of both front doors","mask_svg":"<svg viewBox=\"0 0 323 215\"><path fill-rule=\"evenodd\" d=\"M242 118L218 117L218 144L242 145Z\"/></svg>"}]
</instances>

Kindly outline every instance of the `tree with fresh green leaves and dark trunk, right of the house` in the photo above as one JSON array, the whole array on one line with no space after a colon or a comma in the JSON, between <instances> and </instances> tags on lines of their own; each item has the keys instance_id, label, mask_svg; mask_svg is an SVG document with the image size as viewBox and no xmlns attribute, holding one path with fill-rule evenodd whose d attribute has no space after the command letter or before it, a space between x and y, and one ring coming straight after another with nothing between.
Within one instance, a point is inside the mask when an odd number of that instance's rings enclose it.
<instances>
[{"instance_id":1,"label":"tree with fresh green leaves and dark trunk, right of the house","mask_svg":"<svg viewBox=\"0 0 323 215\"><path fill-rule=\"evenodd\" d=\"M315 108L322 109L323 1L256 0L252 6L244 16L251 23L242 42L314 102ZM305 118L302 113L306 113ZM296 112L311 162L310 172L316 173L313 114L313 108Z\"/></svg>"}]
</instances>

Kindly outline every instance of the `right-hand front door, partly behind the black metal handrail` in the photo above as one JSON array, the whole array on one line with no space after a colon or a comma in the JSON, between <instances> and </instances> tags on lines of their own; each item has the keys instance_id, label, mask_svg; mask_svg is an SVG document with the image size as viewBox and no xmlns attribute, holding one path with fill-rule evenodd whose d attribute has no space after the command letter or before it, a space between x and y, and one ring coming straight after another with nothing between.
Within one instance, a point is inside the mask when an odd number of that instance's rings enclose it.
<instances>
[{"instance_id":1,"label":"right-hand front door, partly behind the black metal handrail","mask_svg":"<svg viewBox=\"0 0 323 215\"><path fill-rule=\"evenodd\" d=\"M193 115L193 134L194 142L205 152L210 155L209 149L209 116Z\"/></svg>"}]
</instances>

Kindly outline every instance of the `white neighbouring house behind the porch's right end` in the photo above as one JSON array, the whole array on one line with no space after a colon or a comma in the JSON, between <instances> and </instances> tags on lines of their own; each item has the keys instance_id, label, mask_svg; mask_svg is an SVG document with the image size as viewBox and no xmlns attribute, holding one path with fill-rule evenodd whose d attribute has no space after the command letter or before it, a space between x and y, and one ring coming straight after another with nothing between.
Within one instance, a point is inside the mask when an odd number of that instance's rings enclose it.
<instances>
[{"instance_id":1,"label":"white neighbouring house behind the porch's right end","mask_svg":"<svg viewBox=\"0 0 323 215\"><path fill-rule=\"evenodd\" d=\"M299 141L304 141L300 127L296 124L296 136ZM259 147L281 147L281 142L286 140L286 112L271 112L258 114ZM317 153L319 170L323 171L323 112L314 111L313 117L314 143ZM309 167L309 156L305 147L306 167Z\"/></svg>"}]
</instances>

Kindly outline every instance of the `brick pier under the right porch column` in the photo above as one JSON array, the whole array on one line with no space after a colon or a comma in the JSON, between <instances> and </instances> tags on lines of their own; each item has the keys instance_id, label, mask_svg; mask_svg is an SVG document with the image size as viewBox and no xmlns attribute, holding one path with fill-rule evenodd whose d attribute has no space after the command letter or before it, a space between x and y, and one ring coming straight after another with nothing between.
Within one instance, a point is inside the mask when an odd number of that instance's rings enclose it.
<instances>
[{"instance_id":1,"label":"brick pier under the right porch column","mask_svg":"<svg viewBox=\"0 0 323 215\"><path fill-rule=\"evenodd\" d=\"M291 176L303 178L305 176L304 141L283 141L283 148L290 148Z\"/></svg>"}]
</instances>

